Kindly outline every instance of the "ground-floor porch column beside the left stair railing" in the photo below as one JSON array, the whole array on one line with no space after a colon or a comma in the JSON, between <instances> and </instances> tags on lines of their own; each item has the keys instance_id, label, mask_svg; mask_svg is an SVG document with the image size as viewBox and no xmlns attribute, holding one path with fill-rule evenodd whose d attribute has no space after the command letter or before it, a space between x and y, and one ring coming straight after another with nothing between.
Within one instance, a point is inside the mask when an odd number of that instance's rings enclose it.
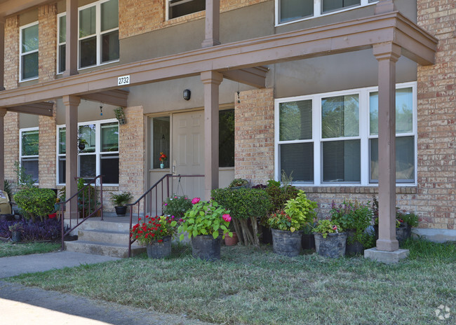
<instances>
[{"instance_id":1,"label":"ground-floor porch column beside the left stair railing","mask_svg":"<svg viewBox=\"0 0 456 325\"><path fill-rule=\"evenodd\" d=\"M66 124L66 173L65 186L67 199L71 198L78 191L78 186L75 177L78 176L78 106L81 98L77 96L63 96L63 104L65 104L65 124ZM77 198L71 201L67 206L69 218L76 219L78 207Z\"/></svg>"}]
</instances>

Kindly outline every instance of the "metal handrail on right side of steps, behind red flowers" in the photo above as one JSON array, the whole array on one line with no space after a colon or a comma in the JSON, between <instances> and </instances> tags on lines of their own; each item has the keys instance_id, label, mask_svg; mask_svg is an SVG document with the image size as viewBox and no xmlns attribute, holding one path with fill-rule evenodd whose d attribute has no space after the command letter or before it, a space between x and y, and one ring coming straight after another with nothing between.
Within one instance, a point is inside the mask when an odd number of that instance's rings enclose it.
<instances>
[{"instance_id":1,"label":"metal handrail on right side of steps, behind red flowers","mask_svg":"<svg viewBox=\"0 0 456 325\"><path fill-rule=\"evenodd\" d=\"M161 185L161 212L163 213L163 201L166 199L166 198L169 198L170 197L170 193L169 193L169 190L170 190L170 185L169 185L169 179L170 178L177 178L179 177L182 178L182 177L204 177L204 175L173 175L173 174L165 174L163 177L161 177L161 179L159 179L158 181L156 181L156 183L154 185L152 185L151 188L149 188L144 194L142 194L140 196L140 198L138 198L138 200L136 200L135 202L133 203L130 203L128 204L127 206L130 207L130 226L128 228L128 233L130 234L131 233L131 228L133 226L133 208L135 207L135 205L138 205L138 223L140 221L140 212L141 212L141 201L144 200L143 204L142 204L142 215L145 216L146 215L146 199L147 199L147 195L149 195L149 210L150 212L152 212L152 191L156 190L155 191L155 207L158 211L158 203L159 203L159 191L158 191L158 188L159 188L159 185ZM163 196L163 181L165 181L166 179L166 198ZM133 244L133 242L136 241L136 238L133 238L131 236L128 236L128 257L131 257L131 244Z\"/></svg>"}]
</instances>

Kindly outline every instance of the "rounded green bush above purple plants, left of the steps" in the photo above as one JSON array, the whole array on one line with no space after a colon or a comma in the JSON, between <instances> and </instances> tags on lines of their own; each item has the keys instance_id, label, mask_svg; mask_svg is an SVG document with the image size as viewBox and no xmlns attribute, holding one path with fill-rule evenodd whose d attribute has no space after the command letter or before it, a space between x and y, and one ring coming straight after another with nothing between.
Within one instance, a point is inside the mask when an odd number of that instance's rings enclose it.
<instances>
[{"instance_id":1,"label":"rounded green bush above purple plants, left of the steps","mask_svg":"<svg viewBox=\"0 0 456 325\"><path fill-rule=\"evenodd\" d=\"M14 201L24 213L26 219L41 221L54 212L55 192L51 188L25 188L14 195Z\"/></svg>"}]
</instances>

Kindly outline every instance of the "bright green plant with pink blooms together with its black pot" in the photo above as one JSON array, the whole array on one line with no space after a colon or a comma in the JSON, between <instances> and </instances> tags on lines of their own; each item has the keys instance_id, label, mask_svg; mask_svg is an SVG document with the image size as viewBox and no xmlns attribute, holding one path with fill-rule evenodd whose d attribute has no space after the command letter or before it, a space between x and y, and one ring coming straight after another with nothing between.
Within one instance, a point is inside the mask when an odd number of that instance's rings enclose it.
<instances>
[{"instance_id":1,"label":"bright green plant with pink blooms together with its black pot","mask_svg":"<svg viewBox=\"0 0 456 325\"><path fill-rule=\"evenodd\" d=\"M184 240L185 233L192 240L193 257L206 261L220 259L220 231L222 238L229 231L231 216L229 211L218 205L215 200L201 202L200 198L192 200L192 209L185 212L183 221L177 231L182 233L180 240Z\"/></svg>"}]
</instances>

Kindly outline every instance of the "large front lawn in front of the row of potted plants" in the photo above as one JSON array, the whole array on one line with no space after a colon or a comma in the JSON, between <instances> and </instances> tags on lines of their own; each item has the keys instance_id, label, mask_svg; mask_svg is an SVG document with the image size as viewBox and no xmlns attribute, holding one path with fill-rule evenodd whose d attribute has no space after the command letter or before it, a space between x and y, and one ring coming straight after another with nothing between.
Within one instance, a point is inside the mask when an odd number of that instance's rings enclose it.
<instances>
[{"instance_id":1,"label":"large front lawn in front of the row of potted plants","mask_svg":"<svg viewBox=\"0 0 456 325\"><path fill-rule=\"evenodd\" d=\"M145 256L20 275L8 281L217 324L455 324L456 245L410 240L410 258L288 258L271 247L222 247L222 260ZM439 305L452 310L441 321Z\"/></svg>"}]
</instances>

